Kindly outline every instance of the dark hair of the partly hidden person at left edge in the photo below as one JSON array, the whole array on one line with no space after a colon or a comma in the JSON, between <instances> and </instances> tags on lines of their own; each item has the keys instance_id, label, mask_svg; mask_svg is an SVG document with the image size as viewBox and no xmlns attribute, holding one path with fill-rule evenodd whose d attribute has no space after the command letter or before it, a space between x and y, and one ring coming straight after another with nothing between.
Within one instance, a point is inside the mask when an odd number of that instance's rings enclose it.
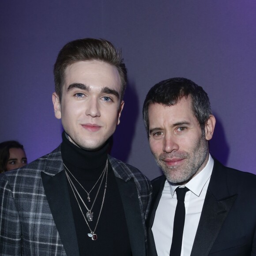
<instances>
[{"instance_id":1,"label":"dark hair of the partly hidden person at left edge","mask_svg":"<svg viewBox=\"0 0 256 256\"><path fill-rule=\"evenodd\" d=\"M23 145L21 145L16 140L8 140L0 143L0 172L6 171L6 165L8 163L8 159L10 158L11 148L21 148L24 150Z\"/></svg>"}]
</instances>

